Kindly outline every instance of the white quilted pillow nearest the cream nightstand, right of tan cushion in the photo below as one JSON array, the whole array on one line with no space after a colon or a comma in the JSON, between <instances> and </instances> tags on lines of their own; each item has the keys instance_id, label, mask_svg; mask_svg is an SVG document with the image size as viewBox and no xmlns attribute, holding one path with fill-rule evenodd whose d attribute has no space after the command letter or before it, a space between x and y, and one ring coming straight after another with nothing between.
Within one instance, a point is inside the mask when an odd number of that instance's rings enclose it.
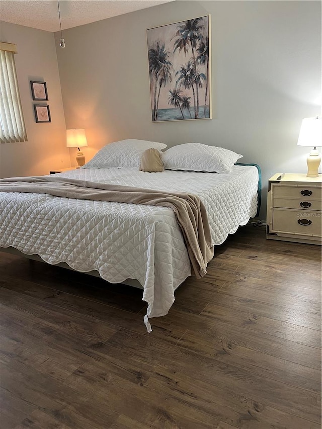
<instances>
[{"instance_id":1,"label":"white quilted pillow nearest the cream nightstand, right of tan cushion","mask_svg":"<svg viewBox=\"0 0 322 429\"><path fill-rule=\"evenodd\" d=\"M234 163L242 156L223 147L185 143L166 150L162 160L165 170L230 173Z\"/></svg>"}]
</instances>

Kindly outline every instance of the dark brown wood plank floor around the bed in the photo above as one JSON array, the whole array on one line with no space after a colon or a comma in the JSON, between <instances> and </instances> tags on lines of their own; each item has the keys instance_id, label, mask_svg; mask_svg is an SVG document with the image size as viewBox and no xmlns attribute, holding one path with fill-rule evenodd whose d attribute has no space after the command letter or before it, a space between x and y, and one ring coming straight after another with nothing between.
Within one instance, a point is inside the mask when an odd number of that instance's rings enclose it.
<instances>
[{"instance_id":1,"label":"dark brown wood plank floor around the bed","mask_svg":"<svg viewBox=\"0 0 322 429\"><path fill-rule=\"evenodd\" d=\"M320 429L320 261L240 228L147 334L141 291L0 253L1 429Z\"/></svg>"}]
</instances>

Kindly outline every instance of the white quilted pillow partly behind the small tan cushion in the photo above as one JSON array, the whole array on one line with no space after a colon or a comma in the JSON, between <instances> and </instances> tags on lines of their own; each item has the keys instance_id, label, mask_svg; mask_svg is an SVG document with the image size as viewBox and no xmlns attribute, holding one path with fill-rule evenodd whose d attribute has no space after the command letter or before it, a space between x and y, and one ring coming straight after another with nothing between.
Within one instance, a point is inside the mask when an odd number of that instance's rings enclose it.
<instances>
[{"instance_id":1,"label":"white quilted pillow partly behind the small tan cushion","mask_svg":"<svg viewBox=\"0 0 322 429\"><path fill-rule=\"evenodd\" d=\"M141 163L141 158L147 149L164 149L164 143L145 140L121 140L102 147L83 168L136 168Z\"/></svg>"}]
</instances>

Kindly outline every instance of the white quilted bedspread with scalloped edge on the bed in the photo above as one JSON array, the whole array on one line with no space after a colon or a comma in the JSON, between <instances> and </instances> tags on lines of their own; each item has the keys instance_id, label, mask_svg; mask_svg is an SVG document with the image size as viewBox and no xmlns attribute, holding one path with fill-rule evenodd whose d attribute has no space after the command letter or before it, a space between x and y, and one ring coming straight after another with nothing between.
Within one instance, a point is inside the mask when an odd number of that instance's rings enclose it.
<instances>
[{"instance_id":1,"label":"white quilted bedspread with scalloped edge on the bed","mask_svg":"<svg viewBox=\"0 0 322 429\"><path fill-rule=\"evenodd\" d=\"M258 172L234 166L232 173L126 168L81 168L64 177L198 194L208 212L213 244L221 244L257 210ZM137 279L148 316L163 316L174 291L190 274L190 262L172 209L75 200L45 194L0 193L0 247L38 254L75 270L97 270L111 283Z\"/></svg>"}]
</instances>

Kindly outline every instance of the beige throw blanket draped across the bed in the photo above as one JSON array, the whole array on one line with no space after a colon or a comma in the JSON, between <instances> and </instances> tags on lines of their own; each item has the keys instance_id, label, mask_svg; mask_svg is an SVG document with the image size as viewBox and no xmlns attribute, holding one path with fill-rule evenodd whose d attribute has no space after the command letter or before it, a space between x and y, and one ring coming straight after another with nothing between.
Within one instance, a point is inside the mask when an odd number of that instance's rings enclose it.
<instances>
[{"instance_id":1,"label":"beige throw blanket draped across the bed","mask_svg":"<svg viewBox=\"0 0 322 429\"><path fill-rule=\"evenodd\" d=\"M206 209L194 194L102 184L59 176L0 179L0 192L28 192L85 200L163 206L173 209L197 278L204 276L214 249Z\"/></svg>"}]
</instances>

